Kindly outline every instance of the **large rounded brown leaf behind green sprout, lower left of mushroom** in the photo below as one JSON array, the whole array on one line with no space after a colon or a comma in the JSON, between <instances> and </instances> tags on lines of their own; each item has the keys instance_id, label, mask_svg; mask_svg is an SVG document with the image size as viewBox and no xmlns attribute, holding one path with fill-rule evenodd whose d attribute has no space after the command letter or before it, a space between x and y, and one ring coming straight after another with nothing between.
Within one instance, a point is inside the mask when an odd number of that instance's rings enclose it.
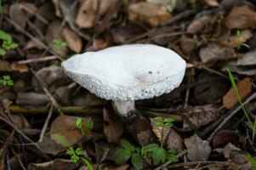
<instances>
[{"instance_id":1,"label":"large rounded brown leaf behind green sprout, lower left of mushroom","mask_svg":"<svg viewBox=\"0 0 256 170\"><path fill-rule=\"evenodd\" d=\"M58 116L51 124L50 138L54 140L56 144L63 144L59 139L56 138L55 134L65 137L69 144L76 144L82 139L81 129L77 128L77 116ZM86 131L86 125L90 121L89 118L82 118L82 128L84 129L84 136L88 134Z\"/></svg>"}]
</instances>

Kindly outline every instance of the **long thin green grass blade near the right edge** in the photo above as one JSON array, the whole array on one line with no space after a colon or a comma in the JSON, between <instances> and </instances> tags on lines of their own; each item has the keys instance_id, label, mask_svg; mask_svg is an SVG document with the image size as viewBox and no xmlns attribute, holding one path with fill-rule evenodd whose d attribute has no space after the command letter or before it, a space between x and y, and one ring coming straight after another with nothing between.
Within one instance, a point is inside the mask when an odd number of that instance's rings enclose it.
<instances>
[{"instance_id":1,"label":"long thin green grass blade near the right edge","mask_svg":"<svg viewBox=\"0 0 256 170\"><path fill-rule=\"evenodd\" d=\"M241 99L241 96L238 92L238 89L236 87L236 82L235 82L235 78L233 77L231 71L229 69L227 69L228 71L228 74L229 74L229 78L230 78L230 82L232 84L232 88L234 89L235 93L236 93L236 97L238 99L238 102L239 104L241 105L242 107L242 111L244 113L244 116L246 116L247 118L247 121L250 123L250 125L253 127L253 137L252 137L252 140L254 140L254 137L255 137L255 129L256 129L256 116L254 117L254 122L251 120L251 118L248 116L248 113L247 113L247 110L245 109L243 103L242 103L242 99Z\"/></svg>"}]
</instances>

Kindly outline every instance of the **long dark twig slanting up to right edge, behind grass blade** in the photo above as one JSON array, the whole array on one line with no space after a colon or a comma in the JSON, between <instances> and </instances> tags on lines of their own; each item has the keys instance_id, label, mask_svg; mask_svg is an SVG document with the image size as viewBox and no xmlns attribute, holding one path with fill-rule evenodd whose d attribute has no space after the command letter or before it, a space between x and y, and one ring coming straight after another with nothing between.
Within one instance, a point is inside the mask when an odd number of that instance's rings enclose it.
<instances>
[{"instance_id":1,"label":"long dark twig slanting up to right edge, behind grass blade","mask_svg":"<svg viewBox=\"0 0 256 170\"><path fill-rule=\"evenodd\" d=\"M249 98L247 98L242 105L247 105L251 100L256 98L256 92L254 92ZM213 133L208 137L208 141L211 141L213 138L213 135L219 131L220 128L224 127L225 123L232 118L232 116L235 116L238 111L242 109L242 105L238 105L234 111L232 111L228 116L225 117L225 119L219 124L217 128L213 131Z\"/></svg>"}]
</instances>

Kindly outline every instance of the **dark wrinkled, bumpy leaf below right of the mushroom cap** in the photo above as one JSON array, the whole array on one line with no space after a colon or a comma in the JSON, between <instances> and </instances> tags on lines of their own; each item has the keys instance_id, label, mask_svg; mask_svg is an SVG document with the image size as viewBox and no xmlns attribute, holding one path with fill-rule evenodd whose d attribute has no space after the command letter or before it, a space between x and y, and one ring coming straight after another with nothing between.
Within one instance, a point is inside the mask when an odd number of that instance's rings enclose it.
<instances>
[{"instance_id":1,"label":"dark wrinkled, bumpy leaf below right of the mushroom cap","mask_svg":"<svg viewBox=\"0 0 256 170\"><path fill-rule=\"evenodd\" d=\"M185 110L184 116L186 117L184 127L188 127L190 124L195 127L201 127L217 120L219 118L219 110L213 105L190 106Z\"/></svg>"}]
</instances>

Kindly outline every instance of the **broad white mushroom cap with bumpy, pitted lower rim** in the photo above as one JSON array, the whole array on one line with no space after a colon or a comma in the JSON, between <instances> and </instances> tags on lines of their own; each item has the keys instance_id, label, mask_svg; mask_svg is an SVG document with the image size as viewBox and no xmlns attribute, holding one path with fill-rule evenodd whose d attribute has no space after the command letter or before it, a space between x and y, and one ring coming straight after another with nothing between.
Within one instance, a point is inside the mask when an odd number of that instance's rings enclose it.
<instances>
[{"instance_id":1,"label":"broad white mushroom cap with bumpy, pitted lower rim","mask_svg":"<svg viewBox=\"0 0 256 170\"><path fill-rule=\"evenodd\" d=\"M76 54L61 64L65 73L102 99L151 99L179 87L185 60L152 44L131 44Z\"/></svg>"}]
</instances>

